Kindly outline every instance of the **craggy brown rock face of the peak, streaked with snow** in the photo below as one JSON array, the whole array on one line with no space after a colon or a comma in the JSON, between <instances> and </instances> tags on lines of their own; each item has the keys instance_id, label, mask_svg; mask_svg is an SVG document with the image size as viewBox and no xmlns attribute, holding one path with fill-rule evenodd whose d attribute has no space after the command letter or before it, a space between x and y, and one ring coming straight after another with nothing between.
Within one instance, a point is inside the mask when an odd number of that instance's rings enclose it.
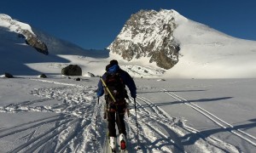
<instances>
[{"instance_id":1,"label":"craggy brown rock face of the peak, streaked with snow","mask_svg":"<svg viewBox=\"0 0 256 153\"><path fill-rule=\"evenodd\" d=\"M110 44L109 50L130 61L149 57L165 69L172 68L178 62L179 43L173 37L177 27L176 12L172 10L141 10L132 14L118 37Z\"/></svg>"}]
</instances>

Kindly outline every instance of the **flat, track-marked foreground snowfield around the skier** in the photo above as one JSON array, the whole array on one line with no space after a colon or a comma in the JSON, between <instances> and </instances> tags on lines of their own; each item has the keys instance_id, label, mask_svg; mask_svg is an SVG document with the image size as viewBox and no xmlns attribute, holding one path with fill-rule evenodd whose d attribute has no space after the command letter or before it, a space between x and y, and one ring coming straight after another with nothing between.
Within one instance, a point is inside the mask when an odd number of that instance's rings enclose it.
<instances>
[{"instance_id":1,"label":"flat, track-marked foreground snowfield around the skier","mask_svg":"<svg viewBox=\"0 0 256 153\"><path fill-rule=\"evenodd\" d=\"M1 152L103 152L98 77L1 78ZM143 79L137 83L138 152L253 152L256 79ZM132 99L131 99L132 101ZM98 114L96 142L94 139ZM129 151L137 147L133 102Z\"/></svg>"}]
</instances>

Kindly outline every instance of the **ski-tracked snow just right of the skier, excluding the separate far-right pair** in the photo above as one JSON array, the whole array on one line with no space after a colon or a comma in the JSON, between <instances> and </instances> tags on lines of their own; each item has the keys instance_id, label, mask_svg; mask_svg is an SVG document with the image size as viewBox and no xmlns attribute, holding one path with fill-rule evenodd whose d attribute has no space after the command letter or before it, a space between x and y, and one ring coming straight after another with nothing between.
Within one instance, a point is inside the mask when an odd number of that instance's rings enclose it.
<instances>
[{"instance_id":1,"label":"ski-tracked snow just right of the skier, excluding the separate far-right pair","mask_svg":"<svg viewBox=\"0 0 256 153\"><path fill-rule=\"evenodd\" d=\"M146 142L146 146L150 144L157 145L152 140L156 139L160 141L160 147L146 149L147 152L238 152L236 148L230 144L225 143L214 137L203 138L200 134L196 134L191 128L183 125L183 122L172 118L159 106L154 105L149 99L144 97L137 97L138 107L137 113L139 118L143 119L139 125L144 129L143 135L149 133L149 142ZM142 105L143 104L143 105ZM145 105L146 104L146 105ZM143 111L142 111L143 110ZM189 133L188 133L189 132ZM193 146L189 146L187 135L194 134L197 137L197 141Z\"/></svg>"}]
</instances>

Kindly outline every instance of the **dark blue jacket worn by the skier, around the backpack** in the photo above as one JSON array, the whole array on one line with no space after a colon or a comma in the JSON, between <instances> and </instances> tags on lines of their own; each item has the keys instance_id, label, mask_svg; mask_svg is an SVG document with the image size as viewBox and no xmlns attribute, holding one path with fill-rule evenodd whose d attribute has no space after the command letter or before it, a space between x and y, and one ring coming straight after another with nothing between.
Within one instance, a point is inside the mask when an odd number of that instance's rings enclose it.
<instances>
[{"instance_id":1,"label":"dark blue jacket worn by the skier, around the backpack","mask_svg":"<svg viewBox=\"0 0 256 153\"><path fill-rule=\"evenodd\" d=\"M102 79L105 81L108 73L113 74L116 71L119 71L122 81L129 88L131 97L136 98L137 88L136 88L135 82L133 81L133 79L129 75L129 73L127 73L126 71L123 71L119 68L119 65L113 65L113 66L109 67L108 71L106 73L104 73L104 75L102 76ZM102 81L100 80L98 82L97 97L101 97L103 94L104 94L104 89L103 89Z\"/></svg>"}]
</instances>

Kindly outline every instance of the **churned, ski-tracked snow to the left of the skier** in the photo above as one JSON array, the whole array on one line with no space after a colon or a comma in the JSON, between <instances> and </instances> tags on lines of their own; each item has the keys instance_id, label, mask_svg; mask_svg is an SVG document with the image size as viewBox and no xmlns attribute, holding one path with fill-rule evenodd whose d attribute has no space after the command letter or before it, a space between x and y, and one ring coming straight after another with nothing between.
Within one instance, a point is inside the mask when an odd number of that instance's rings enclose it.
<instances>
[{"instance_id":1,"label":"churned, ski-tracked snow to the left of the skier","mask_svg":"<svg viewBox=\"0 0 256 153\"><path fill-rule=\"evenodd\" d=\"M31 79L32 81L49 82L61 85L55 88L35 88L30 94L45 99L26 101L20 104L6 105L0 108L1 112L52 112L56 116L42 119L42 121L28 122L24 125L2 129L0 139L4 137L19 137L21 143L10 152L87 152L93 147L101 148L101 144L93 143L91 139L95 132L96 116L96 87L83 87L80 85L51 82ZM54 105L40 105L47 99L61 101ZM39 105L39 106L32 106ZM48 127L48 128L47 128ZM44 128L44 132L38 129ZM89 139L89 140L88 140Z\"/></svg>"}]
</instances>

